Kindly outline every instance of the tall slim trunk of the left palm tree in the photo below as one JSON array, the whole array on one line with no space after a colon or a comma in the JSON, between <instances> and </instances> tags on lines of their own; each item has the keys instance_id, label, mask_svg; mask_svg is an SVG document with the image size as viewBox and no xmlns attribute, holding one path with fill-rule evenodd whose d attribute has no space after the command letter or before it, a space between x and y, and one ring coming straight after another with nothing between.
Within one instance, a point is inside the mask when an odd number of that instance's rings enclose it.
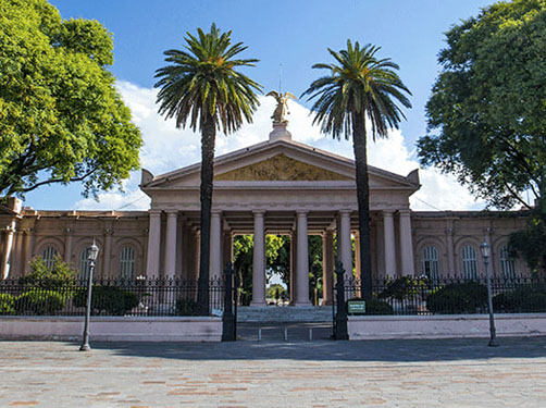
<instances>
[{"instance_id":1,"label":"tall slim trunk of the left palm tree","mask_svg":"<svg viewBox=\"0 0 546 408\"><path fill-rule=\"evenodd\" d=\"M212 180L214 176L214 145L216 127L210 118L201 131L201 245L199 254L199 282L197 304L200 313L209 314L210 288L210 224L212 209Z\"/></svg>"}]
</instances>

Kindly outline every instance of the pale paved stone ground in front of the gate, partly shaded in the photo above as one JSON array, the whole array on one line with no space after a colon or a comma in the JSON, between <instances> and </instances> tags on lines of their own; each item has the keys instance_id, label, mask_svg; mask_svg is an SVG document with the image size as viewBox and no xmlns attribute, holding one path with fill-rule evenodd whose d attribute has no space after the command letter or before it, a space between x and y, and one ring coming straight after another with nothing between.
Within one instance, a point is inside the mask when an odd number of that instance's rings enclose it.
<instances>
[{"instance_id":1,"label":"pale paved stone ground in front of the gate, partly shaded","mask_svg":"<svg viewBox=\"0 0 546 408\"><path fill-rule=\"evenodd\" d=\"M545 407L546 338L0 342L0 407Z\"/></svg>"}]
</instances>

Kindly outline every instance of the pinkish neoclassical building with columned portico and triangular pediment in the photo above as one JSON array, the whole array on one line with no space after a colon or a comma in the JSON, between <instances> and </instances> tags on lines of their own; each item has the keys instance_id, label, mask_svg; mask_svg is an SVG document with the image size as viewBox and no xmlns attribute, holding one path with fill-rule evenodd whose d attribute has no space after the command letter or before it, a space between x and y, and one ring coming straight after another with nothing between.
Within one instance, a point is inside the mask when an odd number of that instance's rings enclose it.
<instances>
[{"instance_id":1,"label":"pinkish neoclassical building with columned portico and triangular pediment","mask_svg":"<svg viewBox=\"0 0 546 408\"><path fill-rule=\"evenodd\" d=\"M140 188L148 211L38 211L9 199L0 206L1 276L28 271L33 257L62 257L88 271L87 248L100 248L97 274L197 279L199 271L200 163L154 176L142 170ZM218 157L214 164L210 275L219 276L233 257L233 237L253 234L252 305L265 306L265 235L290 243L290 297L309 305L308 236L323 239L325 302L334 270L334 236L346 269L356 264L358 240L355 162L293 140L286 124L269 139ZM493 273L529 273L510 259L508 235L521 230L524 212L412 211L420 188L418 170L398 175L369 168L372 270L375 276L473 276L481 270L479 246L492 246ZM359 248L358 245L356 245ZM358 277L358 276L357 276Z\"/></svg>"}]
</instances>

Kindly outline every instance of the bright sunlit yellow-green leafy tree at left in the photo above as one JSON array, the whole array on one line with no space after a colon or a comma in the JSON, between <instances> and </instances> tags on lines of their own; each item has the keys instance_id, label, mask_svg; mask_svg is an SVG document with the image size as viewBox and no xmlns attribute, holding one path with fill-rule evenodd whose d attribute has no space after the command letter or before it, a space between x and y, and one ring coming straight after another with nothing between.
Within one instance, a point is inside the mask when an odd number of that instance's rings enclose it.
<instances>
[{"instance_id":1,"label":"bright sunlit yellow-green leafy tree at left","mask_svg":"<svg viewBox=\"0 0 546 408\"><path fill-rule=\"evenodd\" d=\"M98 22L63 21L46 0L0 2L0 194L83 182L96 196L138 168L112 48Z\"/></svg>"}]
</instances>

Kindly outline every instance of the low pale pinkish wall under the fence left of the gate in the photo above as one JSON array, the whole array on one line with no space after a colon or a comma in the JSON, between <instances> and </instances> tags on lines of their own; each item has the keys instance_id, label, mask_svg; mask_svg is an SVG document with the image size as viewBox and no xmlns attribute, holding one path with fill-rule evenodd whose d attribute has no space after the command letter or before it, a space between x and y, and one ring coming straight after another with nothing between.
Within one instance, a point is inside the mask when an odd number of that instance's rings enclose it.
<instances>
[{"instance_id":1,"label":"low pale pinkish wall under the fence left of the gate","mask_svg":"<svg viewBox=\"0 0 546 408\"><path fill-rule=\"evenodd\" d=\"M83 317L0 317L0 339L82 341ZM220 342L222 319L91 317L90 342Z\"/></svg>"}]
</instances>

